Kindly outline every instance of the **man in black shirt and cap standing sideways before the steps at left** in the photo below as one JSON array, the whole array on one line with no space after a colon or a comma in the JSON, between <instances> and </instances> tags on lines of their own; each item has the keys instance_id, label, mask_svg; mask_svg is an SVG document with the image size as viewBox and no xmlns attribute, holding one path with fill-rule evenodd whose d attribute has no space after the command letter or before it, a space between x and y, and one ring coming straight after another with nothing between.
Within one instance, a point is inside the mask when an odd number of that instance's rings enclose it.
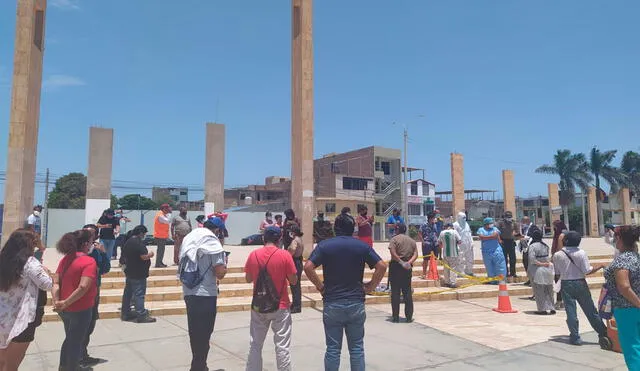
<instances>
[{"instance_id":1,"label":"man in black shirt and cap standing sideways before the steps at left","mask_svg":"<svg viewBox=\"0 0 640 371\"><path fill-rule=\"evenodd\" d=\"M147 277L153 251L149 252L144 243L144 235L147 227L139 225L131 231L131 237L122 247L122 256L125 261L124 274L126 283L122 294L122 309L120 319L123 321L135 321L137 323L155 322L156 319L149 316L144 309L144 296L147 293ZM131 313L131 304L135 307L135 314Z\"/></svg>"}]
</instances>

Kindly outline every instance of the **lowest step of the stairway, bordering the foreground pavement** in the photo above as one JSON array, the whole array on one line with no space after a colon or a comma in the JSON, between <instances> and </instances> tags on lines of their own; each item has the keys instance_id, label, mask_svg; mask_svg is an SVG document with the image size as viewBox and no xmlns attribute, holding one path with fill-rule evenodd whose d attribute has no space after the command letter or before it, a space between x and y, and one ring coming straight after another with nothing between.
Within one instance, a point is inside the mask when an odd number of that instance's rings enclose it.
<instances>
[{"instance_id":1,"label":"lowest step of the stairway, bordering the foreground pavement","mask_svg":"<svg viewBox=\"0 0 640 371\"><path fill-rule=\"evenodd\" d=\"M603 277L590 277L587 279L590 289L598 289L604 283ZM414 284L416 282L414 281ZM460 282L462 285L462 281ZM507 285L510 296L529 296L532 295L532 289L521 283ZM459 289L443 289L441 287L414 286L414 301L440 301L440 300L467 300L476 298L497 298L498 287L496 285L473 285L470 287ZM387 294L367 295L366 304L389 303L390 298ZM322 296L317 292L304 293L302 296L303 307L322 307ZM517 302L512 301L512 305L517 309ZM183 300L165 300L165 301L149 301L145 302L146 308L153 316L162 315L179 315L186 314L186 308ZM100 318L118 318L120 316L120 303L113 302L100 305ZM219 297L218 312L231 311L249 311L251 309L251 296L239 297ZM58 321L57 313L51 311L51 307L47 306L44 321Z\"/></svg>"}]
</instances>

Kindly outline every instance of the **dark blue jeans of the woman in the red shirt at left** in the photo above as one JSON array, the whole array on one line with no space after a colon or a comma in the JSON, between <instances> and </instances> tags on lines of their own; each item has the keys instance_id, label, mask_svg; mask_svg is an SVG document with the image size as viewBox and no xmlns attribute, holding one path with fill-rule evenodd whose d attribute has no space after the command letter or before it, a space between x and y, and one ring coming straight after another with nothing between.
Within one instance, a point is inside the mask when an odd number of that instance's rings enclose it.
<instances>
[{"instance_id":1,"label":"dark blue jeans of the woman in the red shirt at left","mask_svg":"<svg viewBox=\"0 0 640 371\"><path fill-rule=\"evenodd\" d=\"M89 332L93 308L80 312L60 312L60 318L64 323L65 338L60 348L60 370L76 371L82 351L84 340Z\"/></svg>"}]
</instances>

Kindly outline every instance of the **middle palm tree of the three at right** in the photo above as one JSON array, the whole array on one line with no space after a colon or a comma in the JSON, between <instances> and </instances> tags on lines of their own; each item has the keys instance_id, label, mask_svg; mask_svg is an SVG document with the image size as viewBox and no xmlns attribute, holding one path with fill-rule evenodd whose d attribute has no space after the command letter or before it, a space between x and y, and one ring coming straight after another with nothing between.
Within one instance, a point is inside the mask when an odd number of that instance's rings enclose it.
<instances>
[{"instance_id":1,"label":"middle palm tree of the three at right","mask_svg":"<svg viewBox=\"0 0 640 371\"><path fill-rule=\"evenodd\" d=\"M611 165L616 158L617 150L601 152L597 147L591 148L589 155L589 172L595 179L597 192L603 192L600 180L609 183L610 193L618 192L620 185L626 183L624 173L617 167ZM602 201L600 197L596 197L598 206L598 231L600 234L604 232L604 216L602 213Z\"/></svg>"}]
</instances>

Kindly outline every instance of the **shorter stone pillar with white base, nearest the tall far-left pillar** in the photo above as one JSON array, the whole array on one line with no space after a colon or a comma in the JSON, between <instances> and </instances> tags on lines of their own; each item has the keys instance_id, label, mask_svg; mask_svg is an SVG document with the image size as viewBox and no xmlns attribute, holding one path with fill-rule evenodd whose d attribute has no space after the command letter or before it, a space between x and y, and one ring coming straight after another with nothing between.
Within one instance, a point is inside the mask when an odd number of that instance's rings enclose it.
<instances>
[{"instance_id":1,"label":"shorter stone pillar with white base, nearest the tall far-left pillar","mask_svg":"<svg viewBox=\"0 0 640 371\"><path fill-rule=\"evenodd\" d=\"M84 208L85 224L95 224L111 206L113 129L89 128L89 170Z\"/></svg>"}]
</instances>

